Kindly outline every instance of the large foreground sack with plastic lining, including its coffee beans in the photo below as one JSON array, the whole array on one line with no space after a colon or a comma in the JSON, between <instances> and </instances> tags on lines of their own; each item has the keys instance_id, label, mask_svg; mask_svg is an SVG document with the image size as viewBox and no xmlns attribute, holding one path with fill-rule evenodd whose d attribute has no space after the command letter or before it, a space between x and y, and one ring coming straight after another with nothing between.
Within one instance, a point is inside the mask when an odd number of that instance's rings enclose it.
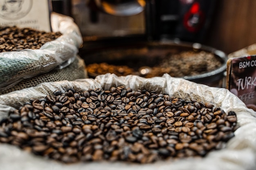
<instances>
[{"instance_id":1,"label":"large foreground sack with plastic lining, including its coffee beans","mask_svg":"<svg viewBox=\"0 0 256 170\"><path fill-rule=\"evenodd\" d=\"M225 88L99 75L0 95L2 169L253 170L256 116Z\"/></svg>"}]
</instances>

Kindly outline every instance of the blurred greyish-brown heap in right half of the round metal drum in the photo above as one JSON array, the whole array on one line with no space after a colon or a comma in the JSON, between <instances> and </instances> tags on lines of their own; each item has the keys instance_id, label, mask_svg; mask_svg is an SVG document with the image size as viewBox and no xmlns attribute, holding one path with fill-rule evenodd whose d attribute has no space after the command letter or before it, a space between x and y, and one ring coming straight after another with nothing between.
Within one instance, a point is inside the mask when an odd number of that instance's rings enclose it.
<instances>
[{"instance_id":1,"label":"blurred greyish-brown heap in right half of the round metal drum","mask_svg":"<svg viewBox=\"0 0 256 170\"><path fill-rule=\"evenodd\" d=\"M151 68L145 77L162 76L168 73L172 77L200 75L219 68L222 62L213 53L184 51L171 55L160 64Z\"/></svg>"}]
</instances>

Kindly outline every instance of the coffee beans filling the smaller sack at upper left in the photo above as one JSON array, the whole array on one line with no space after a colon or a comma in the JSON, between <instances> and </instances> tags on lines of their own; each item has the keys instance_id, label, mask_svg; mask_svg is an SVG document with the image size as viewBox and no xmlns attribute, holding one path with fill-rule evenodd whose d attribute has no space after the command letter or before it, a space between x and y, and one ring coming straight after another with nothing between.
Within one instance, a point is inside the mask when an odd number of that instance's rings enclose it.
<instances>
[{"instance_id":1,"label":"coffee beans filling the smaller sack at upper left","mask_svg":"<svg viewBox=\"0 0 256 170\"><path fill-rule=\"evenodd\" d=\"M55 40L60 32L45 32L17 26L0 26L0 52L40 49L46 42Z\"/></svg>"}]
</instances>

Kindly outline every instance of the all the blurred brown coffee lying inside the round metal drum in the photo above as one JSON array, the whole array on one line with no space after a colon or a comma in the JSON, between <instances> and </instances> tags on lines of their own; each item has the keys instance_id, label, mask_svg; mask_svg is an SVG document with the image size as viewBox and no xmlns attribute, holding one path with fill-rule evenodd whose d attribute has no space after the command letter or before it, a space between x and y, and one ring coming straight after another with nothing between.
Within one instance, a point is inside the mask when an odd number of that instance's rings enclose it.
<instances>
[{"instance_id":1,"label":"all the blurred brown coffee lying inside the round metal drum","mask_svg":"<svg viewBox=\"0 0 256 170\"><path fill-rule=\"evenodd\" d=\"M131 59L128 58L127 60L129 62L131 61ZM138 66L138 63L141 64L141 62L138 61L139 58L133 62L132 66L124 65L125 63L123 61L120 62L120 65L113 65L110 63L92 63L88 64L86 69L89 76L92 75L92 77L95 77L94 75L114 73L118 76L140 75L141 77L150 78L156 76L161 77L164 73L168 73L172 77L200 75L202 73L213 71L222 65L222 62L218 57L213 53L206 51L182 51L179 53L168 53L168 55L164 57L162 56L162 59L158 59L158 63L151 63L151 65L153 64L154 66ZM141 68L145 66L148 71L146 73L142 73Z\"/></svg>"}]
</instances>

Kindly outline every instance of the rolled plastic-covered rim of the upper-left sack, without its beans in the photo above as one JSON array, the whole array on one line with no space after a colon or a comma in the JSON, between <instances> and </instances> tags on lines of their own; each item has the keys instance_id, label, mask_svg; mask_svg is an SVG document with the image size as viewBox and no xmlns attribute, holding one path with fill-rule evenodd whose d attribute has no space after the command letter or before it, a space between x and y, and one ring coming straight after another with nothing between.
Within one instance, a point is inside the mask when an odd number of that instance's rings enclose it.
<instances>
[{"instance_id":1,"label":"rolled plastic-covered rim of the upper-left sack, without its beans","mask_svg":"<svg viewBox=\"0 0 256 170\"><path fill-rule=\"evenodd\" d=\"M61 69L76 57L83 43L81 33L73 19L51 14L52 30L61 37L45 43L40 49L25 49L0 53L0 90L14 86L23 79L48 73L57 66Z\"/></svg>"}]
</instances>

